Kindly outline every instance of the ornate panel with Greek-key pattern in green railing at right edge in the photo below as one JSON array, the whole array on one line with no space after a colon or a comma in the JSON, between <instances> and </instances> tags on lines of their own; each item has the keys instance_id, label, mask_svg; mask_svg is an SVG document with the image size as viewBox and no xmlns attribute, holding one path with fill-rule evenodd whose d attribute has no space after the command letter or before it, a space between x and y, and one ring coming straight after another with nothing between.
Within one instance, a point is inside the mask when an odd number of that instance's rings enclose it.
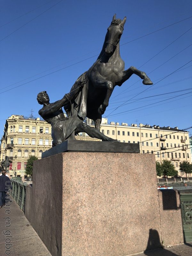
<instances>
[{"instance_id":1,"label":"ornate panel with Greek-key pattern in green railing at right edge","mask_svg":"<svg viewBox=\"0 0 192 256\"><path fill-rule=\"evenodd\" d=\"M181 200L183 225L192 225L192 200Z\"/></svg>"}]
</instances>

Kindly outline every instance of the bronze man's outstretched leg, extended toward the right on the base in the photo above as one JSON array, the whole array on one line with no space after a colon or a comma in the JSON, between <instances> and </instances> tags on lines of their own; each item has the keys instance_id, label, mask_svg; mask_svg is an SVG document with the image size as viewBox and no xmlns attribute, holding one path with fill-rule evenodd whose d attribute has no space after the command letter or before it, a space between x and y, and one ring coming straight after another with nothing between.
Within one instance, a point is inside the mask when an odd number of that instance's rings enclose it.
<instances>
[{"instance_id":1,"label":"bronze man's outstretched leg, extended toward the right on the base","mask_svg":"<svg viewBox=\"0 0 192 256\"><path fill-rule=\"evenodd\" d=\"M86 132L90 137L97 138L102 141L117 141L117 140L107 137L102 132L98 131L97 129L95 129L85 123L80 123L76 128L76 132L77 133L78 132Z\"/></svg>"}]
</instances>

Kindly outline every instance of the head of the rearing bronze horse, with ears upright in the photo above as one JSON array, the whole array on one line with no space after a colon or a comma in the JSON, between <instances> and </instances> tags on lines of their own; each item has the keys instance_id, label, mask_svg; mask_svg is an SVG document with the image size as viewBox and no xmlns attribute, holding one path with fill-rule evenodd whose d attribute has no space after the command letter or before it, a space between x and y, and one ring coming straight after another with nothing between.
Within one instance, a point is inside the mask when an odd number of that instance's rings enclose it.
<instances>
[{"instance_id":1,"label":"head of the rearing bronze horse, with ears upright","mask_svg":"<svg viewBox=\"0 0 192 256\"><path fill-rule=\"evenodd\" d=\"M123 20L116 19L116 14L113 16L113 20L111 25L108 27L107 32L107 40L106 40L106 48L105 54L110 56L115 51L121 35L123 34L124 24L126 21L126 17Z\"/></svg>"}]
</instances>

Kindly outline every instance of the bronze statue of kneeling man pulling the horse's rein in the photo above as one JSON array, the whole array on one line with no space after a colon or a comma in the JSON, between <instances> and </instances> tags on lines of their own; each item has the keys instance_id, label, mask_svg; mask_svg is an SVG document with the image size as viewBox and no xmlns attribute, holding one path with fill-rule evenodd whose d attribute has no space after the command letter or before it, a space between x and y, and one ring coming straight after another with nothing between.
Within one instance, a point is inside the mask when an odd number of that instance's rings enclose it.
<instances>
[{"instance_id":1,"label":"bronze statue of kneeling man pulling the horse's rein","mask_svg":"<svg viewBox=\"0 0 192 256\"><path fill-rule=\"evenodd\" d=\"M116 141L105 136L95 128L83 123L83 120L79 119L78 123L75 120L73 123L73 120L70 120L73 119L70 115L69 117L64 116L62 107L75 98L83 86L84 82L80 81L79 87L76 91L65 94L61 100L57 100L53 103L49 102L49 96L46 91L39 92L37 94L38 103L43 105L43 108L39 110L39 115L52 126L52 147L64 142L65 140L74 139L73 134L68 135L67 133L69 125L75 125L75 134L79 132L86 132L92 138L97 138L102 141Z\"/></svg>"}]
</instances>

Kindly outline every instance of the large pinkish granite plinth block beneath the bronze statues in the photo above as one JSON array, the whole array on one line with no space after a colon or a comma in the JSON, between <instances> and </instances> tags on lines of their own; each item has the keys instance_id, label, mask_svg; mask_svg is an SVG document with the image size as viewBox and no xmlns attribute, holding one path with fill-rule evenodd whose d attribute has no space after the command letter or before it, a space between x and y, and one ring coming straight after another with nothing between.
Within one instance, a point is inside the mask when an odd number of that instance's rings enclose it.
<instances>
[{"instance_id":1,"label":"large pinkish granite plinth block beneath the bronze statues","mask_svg":"<svg viewBox=\"0 0 192 256\"><path fill-rule=\"evenodd\" d=\"M53 256L161 246L152 154L66 152L34 162L31 225Z\"/></svg>"}]
</instances>

